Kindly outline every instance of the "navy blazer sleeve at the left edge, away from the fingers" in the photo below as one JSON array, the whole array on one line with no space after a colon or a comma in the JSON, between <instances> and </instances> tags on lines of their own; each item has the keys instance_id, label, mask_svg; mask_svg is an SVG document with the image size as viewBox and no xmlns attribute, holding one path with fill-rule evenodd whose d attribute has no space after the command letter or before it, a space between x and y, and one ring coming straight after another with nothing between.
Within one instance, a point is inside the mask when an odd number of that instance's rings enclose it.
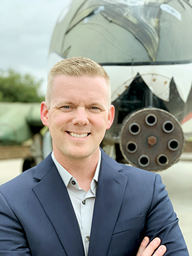
<instances>
[{"instance_id":1,"label":"navy blazer sleeve at the left edge, away from the fingers","mask_svg":"<svg viewBox=\"0 0 192 256\"><path fill-rule=\"evenodd\" d=\"M23 227L0 192L0 255L29 256Z\"/></svg>"}]
</instances>

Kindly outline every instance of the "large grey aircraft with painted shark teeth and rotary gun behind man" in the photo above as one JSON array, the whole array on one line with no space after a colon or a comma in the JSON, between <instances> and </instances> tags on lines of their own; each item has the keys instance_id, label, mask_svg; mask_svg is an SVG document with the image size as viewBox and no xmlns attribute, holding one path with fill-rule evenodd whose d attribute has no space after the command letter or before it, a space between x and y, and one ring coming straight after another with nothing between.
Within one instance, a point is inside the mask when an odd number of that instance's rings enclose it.
<instances>
[{"instance_id":1,"label":"large grey aircraft with painted shark teeth and rotary gun behind man","mask_svg":"<svg viewBox=\"0 0 192 256\"><path fill-rule=\"evenodd\" d=\"M83 56L107 71L115 120L101 147L118 162L163 171L179 161L192 136L191 23L191 0L67 1L48 66ZM51 149L47 131L43 157Z\"/></svg>"}]
</instances>

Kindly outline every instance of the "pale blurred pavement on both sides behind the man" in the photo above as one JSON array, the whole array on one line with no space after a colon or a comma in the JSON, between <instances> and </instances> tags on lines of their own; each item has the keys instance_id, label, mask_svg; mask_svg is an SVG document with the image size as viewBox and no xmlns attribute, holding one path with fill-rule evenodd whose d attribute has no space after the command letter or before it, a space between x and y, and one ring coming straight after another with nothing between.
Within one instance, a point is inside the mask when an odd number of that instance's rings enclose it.
<instances>
[{"instance_id":1,"label":"pale blurred pavement on both sides behind the man","mask_svg":"<svg viewBox=\"0 0 192 256\"><path fill-rule=\"evenodd\" d=\"M19 175L22 165L23 159L1 160L0 184ZM179 218L189 255L192 255L192 153L183 153L178 163L159 174Z\"/></svg>"}]
</instances>

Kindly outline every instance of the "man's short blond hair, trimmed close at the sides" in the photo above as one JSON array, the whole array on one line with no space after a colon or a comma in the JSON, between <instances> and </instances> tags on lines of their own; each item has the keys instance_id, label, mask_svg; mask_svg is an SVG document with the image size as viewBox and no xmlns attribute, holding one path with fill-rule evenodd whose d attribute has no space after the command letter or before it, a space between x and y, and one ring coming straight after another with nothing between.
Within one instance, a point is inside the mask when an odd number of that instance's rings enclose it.
<instances>
[{"instance_id":1,"label":"man's short blond hair, trimmed close at the sides","mask_svg":"<svg viewBox=\"0 0 192 256\"><path fill-rule=\"evenodd\" d=\"M111 105L111 85L107 72L101 65L91 59L85 57L71 57L57 62L50 70L47 81L47 93L45 102L49 109L51 105L51 95L53 93L53 81L57 75L68 75L81 77L87 75L89 77L103 77L107 84L108 91L108 108Z\"/></svg>"}]
</instances>

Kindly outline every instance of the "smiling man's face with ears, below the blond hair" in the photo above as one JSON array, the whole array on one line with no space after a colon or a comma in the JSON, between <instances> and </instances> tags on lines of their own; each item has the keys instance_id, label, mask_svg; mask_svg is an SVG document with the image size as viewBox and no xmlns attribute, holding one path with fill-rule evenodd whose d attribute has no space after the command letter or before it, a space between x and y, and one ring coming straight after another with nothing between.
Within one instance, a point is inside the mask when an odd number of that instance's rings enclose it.
<instances>
[{"instance_id":1,"label":"smiling man's face with ears, below the blond hair","mask_svg":"<svg viewBox=\"0 0 192 256\"><path fill-rule=\"evenodd\" d=\"M41 104L41 120L49 127L55 157L83 159L98 155L106 129L113 123L103 77L57 75L50 109Z\"/></svg>"}]
</instances>

